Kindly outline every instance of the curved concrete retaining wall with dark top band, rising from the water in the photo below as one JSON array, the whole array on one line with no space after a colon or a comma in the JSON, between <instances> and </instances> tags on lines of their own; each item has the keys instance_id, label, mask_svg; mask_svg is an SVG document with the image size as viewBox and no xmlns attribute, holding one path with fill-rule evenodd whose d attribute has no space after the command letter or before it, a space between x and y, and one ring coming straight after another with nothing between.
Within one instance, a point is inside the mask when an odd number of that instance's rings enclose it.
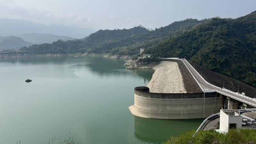
<instances>
[{"instance_id":1,"label":"curved concrete retaining wall with dark top band, rising from the water","mask_svg":"<svg viewBox=\"0 0 256 144\"><path fill-rule=\"evenodd\" d=\"M134 88L132 114L156 119L206 118L218 113L225 98L216 92L152 93L145 86Z\"/></svg>"}]
</instances>

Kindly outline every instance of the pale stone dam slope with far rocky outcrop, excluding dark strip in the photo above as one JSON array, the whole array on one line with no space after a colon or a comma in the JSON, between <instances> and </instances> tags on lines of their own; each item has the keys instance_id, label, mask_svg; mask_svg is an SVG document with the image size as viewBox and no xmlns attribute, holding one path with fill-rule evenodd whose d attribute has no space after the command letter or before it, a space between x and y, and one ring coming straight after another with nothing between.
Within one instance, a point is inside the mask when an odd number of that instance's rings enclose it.
<instances>
[{"instance_id":1,"label":"pale stone dam slope with far rocky outcrop, excluding dark strip","mask_svg":"<svg viewBox=\"0 0 256 144\"><path fill-rule=\"evenodd\" d=\"M147 65L128 60L126 69L154 69L151 80L147 84L150 92L155 93L188 93L179 64L174 61L151 62Z\"/></svg>"}]
</instances>

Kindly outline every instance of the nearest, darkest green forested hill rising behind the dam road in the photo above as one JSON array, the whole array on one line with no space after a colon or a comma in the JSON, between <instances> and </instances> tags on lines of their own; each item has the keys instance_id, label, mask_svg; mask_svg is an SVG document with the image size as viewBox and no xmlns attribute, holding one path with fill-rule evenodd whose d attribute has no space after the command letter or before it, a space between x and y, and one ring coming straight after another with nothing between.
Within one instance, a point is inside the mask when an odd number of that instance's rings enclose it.
<instances>
[{"instance_id":1,"label":"nearest, darkest green forested hill rising behind the dam road","mask_svg":"<svg viewBox=\"0 0 256 144\"><path fill-rule=\"evenodd\" d=\"M256 11L237 19L212 18L146 50L184 57L256 87Z\"/></svg>"}]
</instances>

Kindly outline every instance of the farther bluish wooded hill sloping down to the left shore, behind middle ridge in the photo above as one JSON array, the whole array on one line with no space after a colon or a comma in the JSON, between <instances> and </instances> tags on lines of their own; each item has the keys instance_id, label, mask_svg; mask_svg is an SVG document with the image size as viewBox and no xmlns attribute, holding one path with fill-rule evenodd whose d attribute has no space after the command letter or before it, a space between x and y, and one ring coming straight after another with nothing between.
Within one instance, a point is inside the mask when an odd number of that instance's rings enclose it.
<instances>
[{"instance_id":1,"label":"farther bluish wooded hill sloping down to the left shore, behind middle ridge","mask_svg":"<svg viewBox=\"0 0 256 144\"><path fill-rule=\"evenodd\" d=\"M99 30L84 39L80 40L58 40L52 44L35 44L30 47L25 47L22 51L26 52L110 52L111 48L100 48L105 43L113 40L122 39L127 36L141 35L148 32L146 28L134 27L130 29L115 29L115 30Z\"/></svg>"}]
</instances>

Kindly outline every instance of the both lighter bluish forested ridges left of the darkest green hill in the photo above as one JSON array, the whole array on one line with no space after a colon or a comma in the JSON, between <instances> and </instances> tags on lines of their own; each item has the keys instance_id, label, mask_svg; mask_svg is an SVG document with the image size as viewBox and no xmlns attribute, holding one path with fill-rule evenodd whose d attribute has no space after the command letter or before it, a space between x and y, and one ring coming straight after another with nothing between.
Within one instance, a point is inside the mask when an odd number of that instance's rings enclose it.
<instances>
[{"instance_id":1,"label":"both lighter bluish forested ridges left of the darkest green hill","mask_svg":"<svg viewBox=\"0 0 256 144\"><path fill-rule=\"evenodd\" d=\"M73 41L58 40L52 44L39 44L24 47L27 52L112 52L112 54L137 54L140 47L151 46L170 36L189 30L206 20L187 19L168 26L148 29L138 26L130 29L99 30L83 39ZM126 52L123 52L123 50ZM112 51L111 51L112 50Z\"/></svg>"}]
</instances>

